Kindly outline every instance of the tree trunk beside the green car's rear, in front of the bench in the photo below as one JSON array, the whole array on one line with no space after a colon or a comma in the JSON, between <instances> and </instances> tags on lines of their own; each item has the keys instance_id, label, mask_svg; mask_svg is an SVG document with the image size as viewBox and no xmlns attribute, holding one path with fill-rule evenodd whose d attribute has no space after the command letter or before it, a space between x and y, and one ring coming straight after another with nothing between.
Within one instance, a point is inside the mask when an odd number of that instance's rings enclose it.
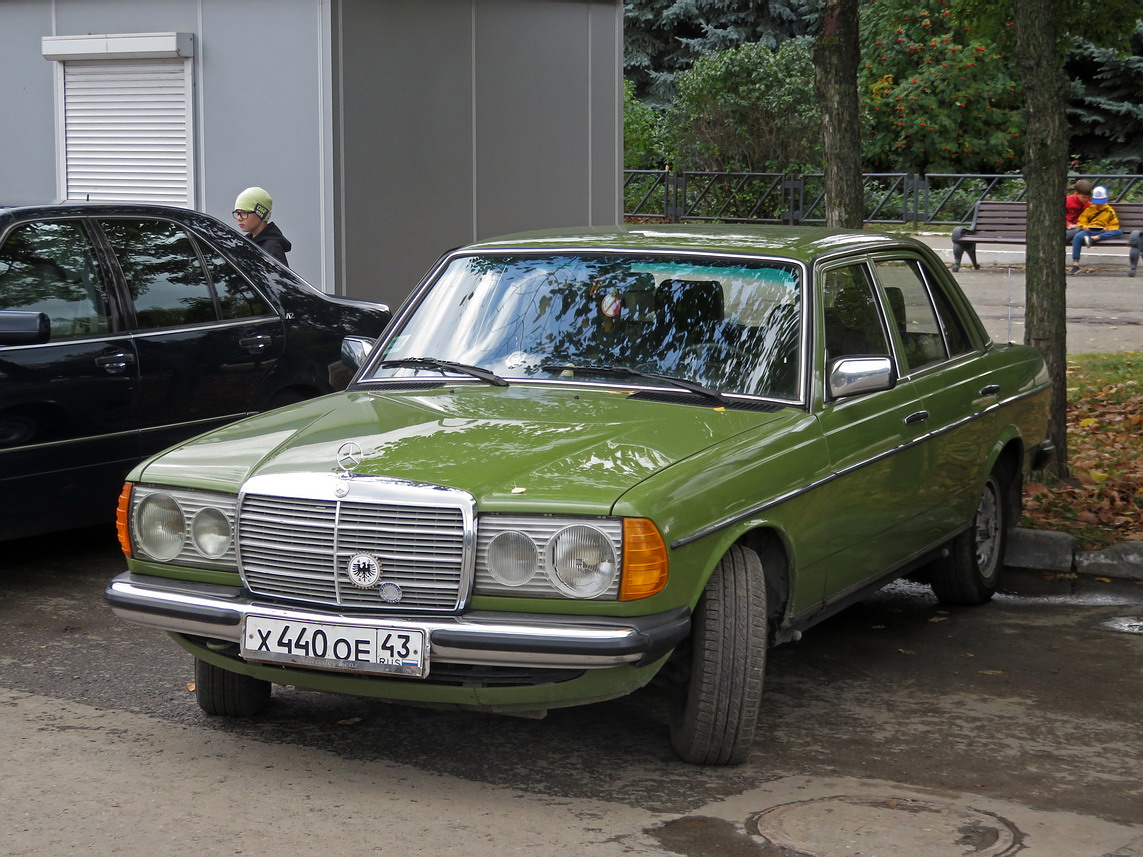
<instances>
[{"instance_id":1,"label":"tree trunk beside the green car's rear, in front of the bench","mask_svg":"<svg viewBox=\"0 0 1143 857\"><path fill-rule=\"evenodd\" d=\"M1044 354L1052 376L1048 434L1056 475L1068 475L1068 302L1064 197L1068 184L1068 80L1052 0L1014 0L1016 59L1024 87L1028 255L1024 342Z\"/></svg>"}]
</instances>

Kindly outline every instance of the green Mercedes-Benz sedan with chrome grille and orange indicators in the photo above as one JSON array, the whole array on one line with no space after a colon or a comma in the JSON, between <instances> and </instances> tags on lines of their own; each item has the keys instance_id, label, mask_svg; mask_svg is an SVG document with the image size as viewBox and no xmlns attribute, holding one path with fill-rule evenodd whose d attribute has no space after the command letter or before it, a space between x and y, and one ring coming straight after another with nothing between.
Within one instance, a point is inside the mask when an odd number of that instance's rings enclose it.
<instances>
[{"instance_id":1,"label":"green Mercedes-Benz sedan with chrome grille and orange indicators","mask_svg":"<svg viewBox=\"0 0 1143 857\"><path fill-rule=\"evenodd\" d=\"M106 598L272 684L537 714L672 687L684 759L746 759L767 649L909 576L996 591L1050 451L1039 353L900 237L630 226L448 254L349 389L129 474Z\"/></svg>"}]
</instances>

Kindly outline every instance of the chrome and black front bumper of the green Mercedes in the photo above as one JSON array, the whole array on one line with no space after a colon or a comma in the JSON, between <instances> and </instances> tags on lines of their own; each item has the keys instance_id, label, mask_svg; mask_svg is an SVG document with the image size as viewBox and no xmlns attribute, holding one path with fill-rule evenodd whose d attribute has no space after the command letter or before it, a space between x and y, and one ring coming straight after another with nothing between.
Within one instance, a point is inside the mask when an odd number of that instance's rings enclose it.
<instances>
[{"instance_id":1,"label":"chrome and black front bumper of the green Mercedes","mask_svg":"<svg viewBox=\"0 0 1143 857\"><path fill-rule=\"evenodd\" d=\"M211 640L241 641L247 616L297 623L421 628L435 660L486 666L597 670L642 666L689 633L690 611L650 616L567 616L474 610L461 616L335 612L256 600L239 586L174 580L126 571L104 593L115 615L138 625Z\"/></svg>"}]
</instances>

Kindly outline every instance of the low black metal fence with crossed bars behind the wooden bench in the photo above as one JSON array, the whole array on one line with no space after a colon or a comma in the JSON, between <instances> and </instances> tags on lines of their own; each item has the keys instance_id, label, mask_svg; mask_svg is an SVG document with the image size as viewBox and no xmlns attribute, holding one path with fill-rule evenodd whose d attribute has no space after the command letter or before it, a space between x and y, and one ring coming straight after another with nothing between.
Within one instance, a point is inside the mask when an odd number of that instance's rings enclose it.
<instances>
[{"instance_id":1,"label":"low black metal fence with crossed bars behind the wooden bench","mask_svg":"<svg viewBox=\"0 0 1143 857\"><path fill-rule=\"evenodd\" d=\"M1105 185L1111 202L1143 202L1143 175L1070 176ZM970 223L980 200L1024 199L1022 175L866 173L865 222L953 226ZM818 173L624 170L626 217L719 223L825 223Z\"/></svg>"}]
</instances>

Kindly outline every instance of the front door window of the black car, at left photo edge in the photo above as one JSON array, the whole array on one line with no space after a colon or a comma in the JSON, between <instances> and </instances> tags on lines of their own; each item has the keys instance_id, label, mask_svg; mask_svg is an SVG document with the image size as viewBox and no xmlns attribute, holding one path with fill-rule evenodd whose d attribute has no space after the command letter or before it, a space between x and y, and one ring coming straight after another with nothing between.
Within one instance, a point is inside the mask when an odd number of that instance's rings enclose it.
<instances>
[{"instance_id":1,"label":"front door window of the black car, at left photo edge","mask_svg":"<svg viewBox=\"0 0 1143 857\"><path fill-rule=\"evenodd\" d=\"M0 248L0 310L47 313L51 338L111 330L107 289L75 221L27 223Z\"/></svg>"}]
</instances>

